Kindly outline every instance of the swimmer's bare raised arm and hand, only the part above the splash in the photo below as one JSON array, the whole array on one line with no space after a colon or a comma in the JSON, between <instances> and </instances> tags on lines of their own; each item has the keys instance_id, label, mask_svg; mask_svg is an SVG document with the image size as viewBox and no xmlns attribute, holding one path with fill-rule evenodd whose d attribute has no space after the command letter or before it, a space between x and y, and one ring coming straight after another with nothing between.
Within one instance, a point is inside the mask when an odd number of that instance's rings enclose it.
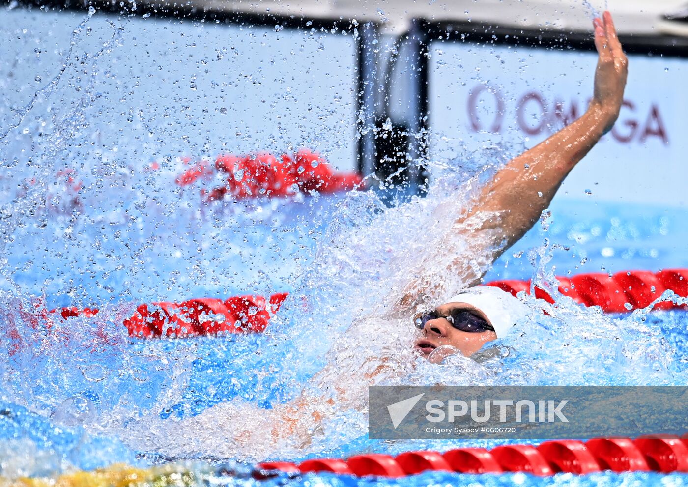
<instances>
[{"instance_id":1,"label":"swimmer's bare raised arm and hand, only the part above the splash","mask_svg":"<svg viewBox=\"0 0 688 487\"><path fill-rule=\"evenodd\" d=\"M506 246L502 249L515 243L535 224L566 175L619 117L628 61L611 14L604 12L602 19L594 19L593 25L599 58L588 110L568 127L500 169L468 215L500 212L501 218L493 221L493 226L504 231ZM488 221L484 228L490 226Z\"/></svg>"}]
</instances>

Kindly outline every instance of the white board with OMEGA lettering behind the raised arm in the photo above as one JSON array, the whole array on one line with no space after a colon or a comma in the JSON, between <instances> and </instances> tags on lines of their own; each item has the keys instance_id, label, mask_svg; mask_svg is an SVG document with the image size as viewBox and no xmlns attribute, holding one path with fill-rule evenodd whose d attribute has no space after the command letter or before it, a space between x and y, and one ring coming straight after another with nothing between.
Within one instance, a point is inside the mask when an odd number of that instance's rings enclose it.
<instances>
[{"instance_id":1,"label":"white board with OMEGA lettering behind the raised arm","mask_svg":"<svg viewBox=\"0 0 688 487\"><path fill-rule=\"evenodd\" d=\"M503 143L514 155L583 113L596 54L477 43L431 44L431 158ZM688 204L688 58L629 56L614 129L568 176L556 199Z\"/></svg>"}]
</instances>

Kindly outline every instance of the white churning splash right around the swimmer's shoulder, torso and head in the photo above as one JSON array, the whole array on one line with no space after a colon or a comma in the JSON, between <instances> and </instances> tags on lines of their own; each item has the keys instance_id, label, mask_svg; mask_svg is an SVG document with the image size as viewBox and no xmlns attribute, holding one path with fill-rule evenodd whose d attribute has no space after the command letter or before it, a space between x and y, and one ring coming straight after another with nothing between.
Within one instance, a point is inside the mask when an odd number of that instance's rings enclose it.
<instances>
[{"instance_id":1,"label":"white churning splash right around the swimmer's shoulder, torso and head","mask_svg":"<svg viewBox=\"0 0 688 487\"><path fill-rule=\"evenodd\" d=\"M438 215L460 213L461 206L457 205L469 207L470 199L461 203L456 198L447 201L445 190L458 186L464 190L458 193L470 195L470 187L477 180L460 186L457 179L440 178L431 185L427 197L394 208L385 208L371 193L350 195L339 206L279 324L257 345L272 368L266 371L269 380L262 384L259 380L256 391L286 388L289 393L285 400L270 401L271 409L266 410L253 400L234 398L194 418L156 420L155 433L151 433L149 422L145 428L143 424L132 425L125 433L129 444L135 448L160 448L173 457L204 451L241 459L300 458L332 448L351 452L344 445L365 432L365 389L370 382L680 382L678 351L667 341L665 331L647 326L640 314L607 316L597 308L581 309L566 297L561 297L557 306L524 298L533 310L531 318L520 323L508 339L481 351L475 360L453 355L442 365L435 365L414 357L410 351L410 313L394 309L396 299L406 291L409 275L429 270L438 285L427 290L421 305L441 303L480 276L499 245L499 239L489 232L474 232L472 245L466 241L447 245L446 236L455 235L449 232L459 229L454 219ZM548 230L547 213L542 225L544 231ZM408 235L424 238L409 239ZM531 252L535 282L554 289L552 271L546 269L555 248L545 240ZM458 274L457 268L447 267L447 255L460 256L463 263L473 266L465 266L464 274ZM270 354L271 349L276 354ZM294 401L294 397L301 399ZM485 442L473 444L484 446ZM462 445L466 446L465 442ZM359 444L353 451L367 447ZM393 449L426 447L446 449L448 445L396 442Z\"/></svg>"}]
</instances>

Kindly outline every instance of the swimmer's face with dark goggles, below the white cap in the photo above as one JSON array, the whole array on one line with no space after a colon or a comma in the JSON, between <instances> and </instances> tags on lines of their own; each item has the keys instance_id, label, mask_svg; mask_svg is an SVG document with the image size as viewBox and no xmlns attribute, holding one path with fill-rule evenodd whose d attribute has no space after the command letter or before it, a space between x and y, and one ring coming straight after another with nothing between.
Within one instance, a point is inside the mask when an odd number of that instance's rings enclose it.
<instances>
[{"instance_id":1,"label":"swimmer's face with dark goggles, below the white cap","mask_svg":"<svg viewBox=\"0 0 688 487\"><path fill-rule=\"evenodd\" d=\"M420 330L422 336L416 340L414 347L418 354L431 362L440 362L447 355L454 353L450 347L458 349L464 356L470 357L480 350L485 343L497 339L497 334L491 329L480 332L464 332L450 323L451 318L445 317L457 316L460 312L469 312L479 318L478 321L484 320L491 327L487 316L472 305L455 301L438 306L434 311L437 318L425 322L422 330ZM443 345L450 345L450 347L435 351Z\"/></svg>"}]
</instances>

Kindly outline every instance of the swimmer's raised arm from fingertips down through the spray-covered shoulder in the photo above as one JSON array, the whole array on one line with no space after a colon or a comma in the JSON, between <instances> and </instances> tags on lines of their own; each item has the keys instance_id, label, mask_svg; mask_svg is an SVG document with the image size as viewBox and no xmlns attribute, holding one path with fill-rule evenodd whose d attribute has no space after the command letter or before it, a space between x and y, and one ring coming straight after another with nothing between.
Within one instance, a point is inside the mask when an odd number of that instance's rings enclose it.
<instances>
[{"instance_id":1,"label":"swimmer's raised arm from fingertips down through the spray-covered shoulder","mask_svg":"<svg viewBox=\"0 0 688 487\"><path fill-rule=\"evenodd\" d=\"M479 284L487 266L533 227L566 175L619 117L628 61L611 14L605 12L602 19L594 19L593 25L599 58L588 110L541 144L510 160L486 184L473 206L455 221L455 230L468 249L462 255L447 256L444 263L446 272L464 288ZM478 233L484 237L477 237ZM451 248L449 243L456 235L447 238L442 248ZM435 274L436 270L431 270L413 275L402 288L400 299L393 297L398 309L409 312L441 295L442 279Z\"/></svg>"}]
</instances>

